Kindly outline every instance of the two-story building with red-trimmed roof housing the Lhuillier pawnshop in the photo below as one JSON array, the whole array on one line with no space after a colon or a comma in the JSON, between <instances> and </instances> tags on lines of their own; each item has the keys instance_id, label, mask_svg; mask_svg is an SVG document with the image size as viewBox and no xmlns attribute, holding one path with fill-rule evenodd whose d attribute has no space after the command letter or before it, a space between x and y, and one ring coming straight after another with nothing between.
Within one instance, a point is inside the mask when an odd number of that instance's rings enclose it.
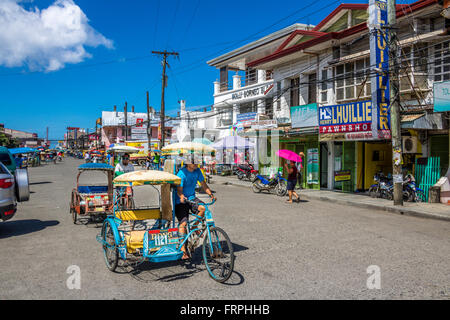
<instances>
[{"instance_id":1,"label":"two-story building with red-trimmed roof housing the Lhuillier pawnshop","mask_svg":"<svg viewBox=\"0 0 450 320\"><path fill-rule=\"evenodd\" d=\"M441 11L438 0L397 5L401 161L412 173L417 160L429 157L440 158L441 174L448 169L448 118L433 110L433 85L450 79L450 23ZM304 187L367 190L376 172L392 172L390 131L374 138L370 129L372 79L380 70L371 62L368 18L368 4L341 4L313 28L291 29L272 53L240 66L270 73L269 105L288 125L278 121L270 132L269 167L279 167L277 149L303 151ZM255 131L263 130L244 134Z\"/></svg>"}]
</instances>

